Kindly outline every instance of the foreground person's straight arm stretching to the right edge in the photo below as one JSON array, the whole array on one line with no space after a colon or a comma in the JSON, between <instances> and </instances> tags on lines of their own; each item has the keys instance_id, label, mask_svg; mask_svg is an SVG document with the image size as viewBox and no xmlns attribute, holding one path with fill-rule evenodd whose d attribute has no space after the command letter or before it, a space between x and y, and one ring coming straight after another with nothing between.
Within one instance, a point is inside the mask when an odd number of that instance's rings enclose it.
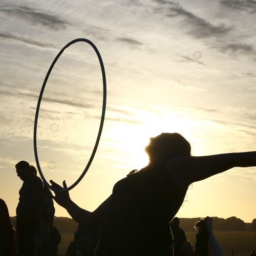
<instances>
[{"instance_id":1,"label":"foreground person's straight arm stretching to the right edge","mask_svg":"<svg viewBox=\"0 0 256 256\"><path fill-rule=\"evenodd\" d=\"M204 180L233 167L256 166L256 152L228 153L212 156L182 156L170 159L166 168L181 186Z\"/></svg>"}]
</instances>

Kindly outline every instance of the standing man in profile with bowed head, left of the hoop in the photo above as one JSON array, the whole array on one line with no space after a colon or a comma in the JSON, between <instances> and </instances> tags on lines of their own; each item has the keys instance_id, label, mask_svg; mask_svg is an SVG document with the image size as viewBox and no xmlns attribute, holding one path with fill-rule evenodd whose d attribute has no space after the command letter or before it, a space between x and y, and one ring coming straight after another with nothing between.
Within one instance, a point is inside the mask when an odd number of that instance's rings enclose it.
<instances>
[{"instance_id":1,"label":"standing man in profile with bowed head, left of the hoop","mask_svg":"<svg viewBox=\"0 0 256 256\"><path fill-rule=\"evenodd\" d=\"M43 185L41 179L31 171L28 162L20 161L15 167L17 176L23 181L16 208L18 255L30 256L35 250L34 241L41 217Z\"/></svg>"}]
</instances>

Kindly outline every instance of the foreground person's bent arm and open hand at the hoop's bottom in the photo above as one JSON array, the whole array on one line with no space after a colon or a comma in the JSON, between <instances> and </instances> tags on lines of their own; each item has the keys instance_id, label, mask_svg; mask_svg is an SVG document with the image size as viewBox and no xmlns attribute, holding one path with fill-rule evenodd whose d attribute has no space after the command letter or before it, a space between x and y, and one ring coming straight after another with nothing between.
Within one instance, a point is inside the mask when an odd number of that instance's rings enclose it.
<instances>
[{"instance_id":1,"label":"foreground person's bent arm and open hand at the hoop's bottom","mask_svg":"<svg viewBox=\"0 0 256 256\"><path fill-rule=\"evenodd\" d=\"M63 188L67 188L67 184L63 181L63 187L58 185L57 183L50 181L52 187L58 190ZM70 198L69 192L55 192L55 197L53 199L62 207L64 207L70 214L70 216L78 223L84 223L88 225L100 225L104 222L105 218L108 216L108 212L110 210L111 203L110 196L106 199L96 210L93 212L80 208L76 205Z\"/></svg>"}]
</instances>

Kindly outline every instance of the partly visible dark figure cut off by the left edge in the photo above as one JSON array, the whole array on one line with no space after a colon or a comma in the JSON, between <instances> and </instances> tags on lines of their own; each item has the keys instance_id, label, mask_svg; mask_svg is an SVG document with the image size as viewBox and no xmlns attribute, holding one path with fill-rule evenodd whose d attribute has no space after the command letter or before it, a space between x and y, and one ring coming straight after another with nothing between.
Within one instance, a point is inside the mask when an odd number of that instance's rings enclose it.
<instances>
[{"instance_id":1,"label":"partly visible dark figure cut off by the left edge","mask_svg":"<svg viewBox=\"0 0 256 256\"><path fill-rule=\"evenodd\" d=\"M16 255L14 235L15 230L9 216L7 205L0 198L0 256Z\"/></svg>"}]
</instances>

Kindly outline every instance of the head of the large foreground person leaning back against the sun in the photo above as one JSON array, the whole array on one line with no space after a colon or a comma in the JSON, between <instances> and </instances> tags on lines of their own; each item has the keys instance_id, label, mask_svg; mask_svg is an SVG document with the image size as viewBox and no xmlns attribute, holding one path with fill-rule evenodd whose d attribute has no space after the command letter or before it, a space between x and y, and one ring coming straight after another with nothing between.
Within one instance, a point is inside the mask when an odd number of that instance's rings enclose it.
<instances>
[{"instance_id":1,"label":"head of the large foreground person leaning back against the sun","mask_svg":"<svg viewBox=\"0 0 256 256\"><path fill-rule=\"evenodd\" d=\"M161 133L150 138L150 144L145 147L145 152L151 162L165 162L179 156L190 156L191 146L178 133Z\"/></svg>"}]
</instances>

